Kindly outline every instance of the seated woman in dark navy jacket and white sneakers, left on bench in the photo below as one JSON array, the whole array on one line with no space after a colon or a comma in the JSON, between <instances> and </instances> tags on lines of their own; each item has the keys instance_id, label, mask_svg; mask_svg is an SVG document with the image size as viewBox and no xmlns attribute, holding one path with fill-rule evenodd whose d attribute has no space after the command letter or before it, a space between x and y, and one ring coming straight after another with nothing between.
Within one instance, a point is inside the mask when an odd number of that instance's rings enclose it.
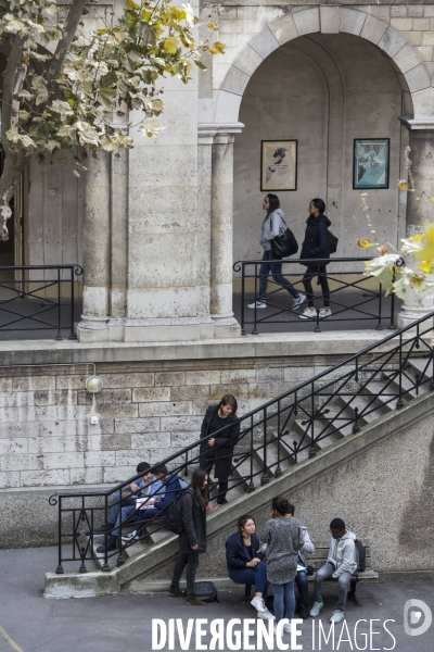
<instances>
[{"instance_id":1,"label":"seated woman in dark navy jacket and white sneakers, left on bench","mask_svg":"<svg viewBox=\"0 0 434 652\"><path fill-rule=\"evenodd\" d=\"M253 516L244 514L238 519L238 532L226 542L226 563L229 577L239 584L255 585L255 597L251 604L257 610L258 618L273 620L275 616L266 607L267 564L260 552L260 543L255 534Z\"/></svg>"}]
</instances>

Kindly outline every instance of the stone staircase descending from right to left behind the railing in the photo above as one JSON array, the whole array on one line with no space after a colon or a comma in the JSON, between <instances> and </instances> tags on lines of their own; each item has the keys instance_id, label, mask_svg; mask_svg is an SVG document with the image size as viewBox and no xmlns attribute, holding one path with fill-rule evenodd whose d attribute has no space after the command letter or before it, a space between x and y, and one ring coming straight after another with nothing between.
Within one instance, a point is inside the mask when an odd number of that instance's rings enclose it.
<instances>
[{"instance_id":1,"label":"stone staircase descending from right to left behind the railing","mask_svg":"<svg viewBox=\"0 0 434 652\"><path fill-rule=\"evenodd\" d=\"M216 536L228 524L234 523L240 513L254 512L255 509L266 504L278 492L289 490L294 482L305 482L306 478L315 478L316 473L322 473L327 464L333 464L334 455L347 447L348 451L355 446L362 446L363 437L369 442L375 441L375 432L382 432L388 428L393 432L394 422L399 418L399 427L403 418L411 408L411 414L418 414L420 405L426 402L426 410L434 408L434 392L431 391L431 365L427 358L411 358L403 374L404 406L396 409L396 396L392 398L388 394L396 394L398 390L397 372L393 368L381 372L378 381L369 383L361 392L361 396L336 397L327 408L327 412L321 413L321 419L315 423L315 434L323 432L324 437L315 444L316 456L309 456L310 429L306 419L297 415L291 422L290 435L285 440L281 440L280 446L280 471L277 472L278 442L276 441L276 428L267 430L267 466L268 484L260 484L264 467L264 449L260 447L260 437L255 436L255 452L252 456L253 473L255 475L256 489L248 492L248 478L251 459L243 460L246 447L241 443L234 453L234 472L230 484L230 502L218 511L212 511L208 516L208 537ZM414 388L414 383L425 381L424 385ZM360 381L361 387L363 380ZM352 419L354 411L358 409L358 425L360 431L355 431ZM414 413L416 410L416 413ZM423 408L425 410L425 408ZM422 412L423 412L422 410ZM333 421L333 418L339 421ZM409 417L410 419L413 418ZM410 422L409 422L410 423ZM337 425L336 425L337 424ZM297 456L297 463L290 455L290 446L293 441L308 444ZM291 443L290 443L291 442ZM363 444L365 446L365 444ZM286 457L286 459L285 459ZM238 461L238 462L237 462ZM240 462L241 461L241 462ZM326 465L326 466L324 466ZM308 469L308 473L306 473ZM233 488L231 488L231 486ZM212 510L215 499L212 500ZM241 506L242 505L242 506ZM131 531L133 526L124 528L125 531ZM152 587L152 582L146 582L146 576L155 573L157 568L167 566L173 562L178 550L178 537L167 530L164 521L156 522L149 526L145 541L140 541L128 546L123 550L124 564L118 565L118 555L110 559L110 570L101 570L87 574L65 573L56 575L47 574L44 595L49 598L62 597L86 597L95 594L108 594L115 592L137 592L146 591ZM94 550L103 543L103 536L94 537ZM102 555L95 553L97 567L102 568Z\"/></svg>"}]
</instances>

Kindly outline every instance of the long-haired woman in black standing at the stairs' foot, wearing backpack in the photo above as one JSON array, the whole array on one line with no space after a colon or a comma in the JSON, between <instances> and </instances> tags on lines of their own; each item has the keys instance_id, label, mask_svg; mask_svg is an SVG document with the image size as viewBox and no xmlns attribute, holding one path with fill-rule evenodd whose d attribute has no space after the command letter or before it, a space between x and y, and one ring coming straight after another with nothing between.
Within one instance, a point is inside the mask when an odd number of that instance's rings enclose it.
<instances>
[{"instance_id":1,"label":"long-haired woman in black standing at the stairs' foot, wearing backpack","mask_svg":"<svg viewBox=\"0 0 434 652\"><path fill-rule=\"evenodd\" d=\"M182 572L187 566L186 604L203 606L194 593L194 580L199 566L199 555L206 552L206 505L208 502L206 486L208 475L203 468L196 468L191 476L190 487L182 496L182 531L179 535L179 560L175 564L169 595L183 595L179 588Z\"/></svg>"}]
</instances>

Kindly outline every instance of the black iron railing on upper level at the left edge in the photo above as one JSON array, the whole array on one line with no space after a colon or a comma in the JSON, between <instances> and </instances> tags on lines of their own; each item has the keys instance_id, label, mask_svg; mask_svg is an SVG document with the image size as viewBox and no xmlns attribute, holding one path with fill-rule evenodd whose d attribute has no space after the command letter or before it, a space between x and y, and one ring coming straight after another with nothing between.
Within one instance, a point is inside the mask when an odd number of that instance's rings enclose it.
<instances>
[{"instance_id":1,"label":"black iron railing on upper level at the left edge","mask_svg":"<svg viewBox=\"0 0 434 652\"><path fill-rule=\"evenodd\" d=\"M74 299L80 265L0 266L0 334L61 330L74 334Z\"/></svg>"}]
</instances>

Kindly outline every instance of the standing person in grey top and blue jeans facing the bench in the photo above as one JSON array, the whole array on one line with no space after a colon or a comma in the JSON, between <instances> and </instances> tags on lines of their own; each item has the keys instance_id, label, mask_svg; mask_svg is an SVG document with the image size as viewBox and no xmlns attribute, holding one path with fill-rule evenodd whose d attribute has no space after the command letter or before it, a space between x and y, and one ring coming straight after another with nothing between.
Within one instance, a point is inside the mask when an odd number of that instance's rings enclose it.
<instances>
[{"instance_id":1,"label":"standing person in grey top and blue jeans facing the bench","mask_svg":"<svg viewBox=\"0 0 434 652\"><path fill-rule=\"evenodd\" d=\"M273 499L270 518L265 524L260 540L267 543L267 576L275 594L276 624L288 618L290 623L283 625L283 631L291 631L297 556L305 539L302 524L298 518L292 517L290 501L283 496Z\"/></svg>"}]
</instances>

